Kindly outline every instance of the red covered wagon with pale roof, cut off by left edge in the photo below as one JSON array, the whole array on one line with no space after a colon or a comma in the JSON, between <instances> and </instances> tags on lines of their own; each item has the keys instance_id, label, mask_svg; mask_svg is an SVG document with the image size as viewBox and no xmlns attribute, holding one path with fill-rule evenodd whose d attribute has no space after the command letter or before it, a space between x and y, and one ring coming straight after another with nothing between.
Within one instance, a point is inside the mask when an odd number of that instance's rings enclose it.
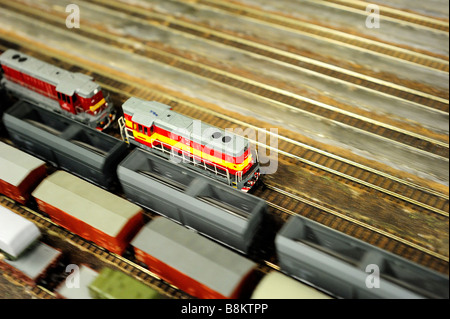
<instances>
[{"instance_id":1,"label":"red covered wagon with pale roof, cut off by left edge","mask_svg":"<svg viewBox=\"0 0 450 319\"><path fill-rule=\"evenodd\" d=\"M45 162L0 142L0 193L25 204L45 177Z\"/></svg>"}]
</instances>

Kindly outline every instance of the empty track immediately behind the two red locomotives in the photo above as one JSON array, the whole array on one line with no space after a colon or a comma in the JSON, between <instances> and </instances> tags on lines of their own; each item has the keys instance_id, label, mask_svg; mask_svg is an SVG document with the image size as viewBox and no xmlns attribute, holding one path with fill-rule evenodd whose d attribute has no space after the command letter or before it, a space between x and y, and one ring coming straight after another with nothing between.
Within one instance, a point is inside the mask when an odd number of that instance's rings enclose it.
<instances>
[{"instance_id":1,"label":"empty track immediately behind the two red locomotives","mask_svg":"<svg viewBox=\"0 0 450 319\"><path fill-rule=\"evenodd\" d=\"M3 45L8 47L11 44L10 42L3 42ZM61 63L61 67L72 71L83 70L69 62ZM168 104L174 107L177 112L200 119L219 128L229 128L236 125L244 128L254 128L248 123L243 123L219 113L199 108L189 102L176 99L161 92L143 86L137 86L137 83L132 84L131 82L124 82L117 78L113 79L110 75L92 70L88 72L106 90L116 92L122 96L120 98L122 101L125 100L123 96L139 96L147 100L156 100ZM258 144L258 147L265 146ZM359 163L285 138L279 139L278 149L273 151L276 151L280 158L284 158L291 163L301 164L309 170L323 171L326 176L337 180L345 180L347 183L356 185L357 187L378 192L382 196L403 202L408 207L419 209L423 212L434 212L438 215L448 217L449 202L447 194L420 187L417 184L396 178L382 171L371 169Z\"/></svg>"}]
</instances>

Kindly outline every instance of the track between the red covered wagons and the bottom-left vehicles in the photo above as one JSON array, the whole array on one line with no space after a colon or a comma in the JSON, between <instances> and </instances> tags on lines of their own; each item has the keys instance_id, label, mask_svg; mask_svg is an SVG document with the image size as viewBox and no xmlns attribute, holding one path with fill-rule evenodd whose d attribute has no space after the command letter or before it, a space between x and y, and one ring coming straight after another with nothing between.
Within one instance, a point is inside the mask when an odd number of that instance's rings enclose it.
<instances>
[{"instance_id":1,"label":"track between the red covered wagons and the bottom-left vehicles","mask_svg":"<svg viewBox=\"0 0 450 319\"><path fill-rule=\"evenodd\" d=\"M96 244L71 233L65 228L55 224L50 219L42 216L40 213L37 213L25 206L19 205L5 196L0 196L0 205L8 207L17 214L27 218L28 220L33 221L45 233L51 234L52 236L57 236L64 241L71 242L79 249L83 251L88 251L91 254L93 254L96 258L104 261L106 264L114 265L121 271L131 274L133 277L139 279L140 281L144 282L145 284L151 287L156 288L158 291L162 292L164 295L170 298L174 299L192 298L191 296L177 289L176 287L162 281L155 274L138 265L136 262L127 259L125 257L119 256L117 254L111 253L105 250L104 248L97 246ZM54 293L48 291L45 287L36 286L32 289L33 291L36 291L36 293L38 293L39 296L45 297L45 295L48 295L47 297L54 297Z\"/></svg>"}]
</instances>

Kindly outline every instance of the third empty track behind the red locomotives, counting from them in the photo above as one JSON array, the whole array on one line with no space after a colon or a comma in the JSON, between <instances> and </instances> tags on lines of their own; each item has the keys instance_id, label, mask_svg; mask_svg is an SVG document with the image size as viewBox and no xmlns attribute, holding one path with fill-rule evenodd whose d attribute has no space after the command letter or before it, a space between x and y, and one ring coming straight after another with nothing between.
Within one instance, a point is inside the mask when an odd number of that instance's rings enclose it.
<instances>
[{"instance_id":1,"label":"third empty track behind the red locomotives, counting from them","mask_svg":"<svg viewBox=\"0 0 450 319\"><path fill-rule=\"evenodd\" d=\"M114 1L97 0L103 7L120 10L132 15L134 18L141 18L146 23L158 23L167 28L181 31L196 37L232 46L244 52L251 52L259 56L291 64L294 67L320 73L328 77L343 80L364 88L369 88L383 94L392 95L404 100L412 101L443 112L449 111L448 100L424 94L423 92L411 90L406 87L397 86L393 83L382 81L373 77L364 76L356 72L351 72L342 68L337 68L330 64L320 63L313 59L302 57L298 54L292 54L270 46L258 44L236 36L230 36L224 32L215 31L200 25L189 23L183 20L167 19L167 16L154 12L143 11L134 6L128 6Z\"/></svg>"}]
</instances>

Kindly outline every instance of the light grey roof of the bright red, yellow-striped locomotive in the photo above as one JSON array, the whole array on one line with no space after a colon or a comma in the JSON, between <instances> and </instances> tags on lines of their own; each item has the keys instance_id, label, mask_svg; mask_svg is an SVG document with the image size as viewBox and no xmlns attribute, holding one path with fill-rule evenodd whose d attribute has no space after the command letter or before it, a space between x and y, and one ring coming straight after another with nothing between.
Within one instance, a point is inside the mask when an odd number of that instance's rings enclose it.
<instances>
[{"instance_id":1,"label":"light grey roof of the bright red, yellow-striped locomotive","mask_svg":"<svg viewBox=\"0 0 450 319\"><path fill-rule=\"evenodd\" d=\"M227 155L240 156L248 146L248 140L242 136L171 111L169 106L158 102L132 97L122 107L135 123L147 127L155 124Z\"/></svg>"}]
</instances>

